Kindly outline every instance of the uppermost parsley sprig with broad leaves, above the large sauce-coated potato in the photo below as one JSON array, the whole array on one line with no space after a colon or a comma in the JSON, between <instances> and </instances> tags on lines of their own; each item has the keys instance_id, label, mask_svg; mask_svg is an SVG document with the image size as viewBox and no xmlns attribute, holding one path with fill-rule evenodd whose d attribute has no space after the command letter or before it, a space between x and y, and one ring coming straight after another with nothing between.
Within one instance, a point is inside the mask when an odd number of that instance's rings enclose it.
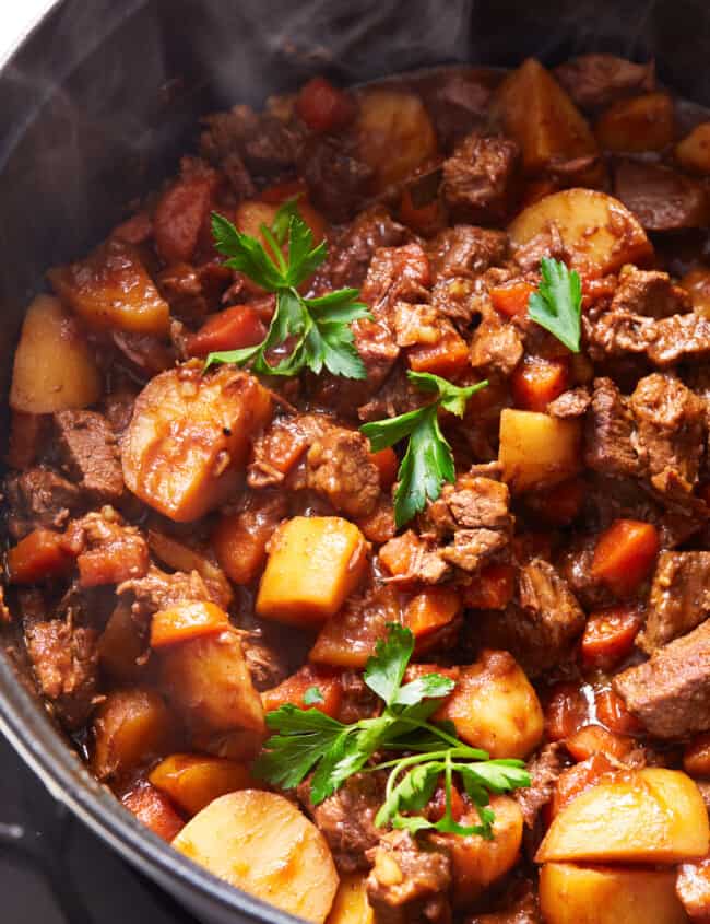
<instances>
[{"instance_id":1,"label":"uppermost parsley sprig with broad leaves, above the large sauce-coated potato","mask_svg":"<svg viewBox=\"0 0 710 924\"><path fill-rule=\"evenodd\" d=\"M313 246L313 235L294 199L279 209L271 227L261 225L267 246L242 234L217 212L212 213L212 234L217 250L229 257L226 266L244 272L267 292L274 292L276 308L261 343L210 353L205 369L213 363L250 362L261 375L292 376L304 369L318 375L326 367L346 378L366 377L350 327L354 320L369 317L367 306L357 301L357 289L340 289L316 299L305 299L298 292L326 259L328 246L324 241ZM287 257L282 250L286 242ZM288 355L270 363L270 351L284 346Z\"/></svg>"}]
</instances>

